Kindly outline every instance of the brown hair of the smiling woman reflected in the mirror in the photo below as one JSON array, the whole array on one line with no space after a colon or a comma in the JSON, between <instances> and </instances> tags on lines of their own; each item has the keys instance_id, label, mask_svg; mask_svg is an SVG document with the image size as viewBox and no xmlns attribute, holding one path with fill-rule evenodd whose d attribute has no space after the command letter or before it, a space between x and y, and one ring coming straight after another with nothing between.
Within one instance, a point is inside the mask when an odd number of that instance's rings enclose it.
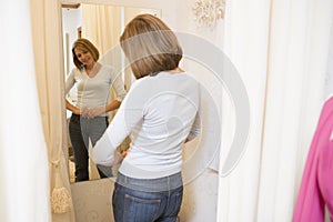
<instances>
[{"instance_id":1,"label":"brown hair of the smiling woman reflected in the mirror","mask_svg":"<svg viewBox=\"0 0 333 222\"><path fill-rule=\"evenodd\" d=\"M75 64L75 67L79 70L82 70L84 67L83 64L79 61L77 54L75 54L75 48L81 49L83 51L89 51L93 58L93 60L97 62L100 58L100 53L99 50L95 48L95 46L93 46L93 43L91 43L91 41L89 41L88 39L78 39L72 47L72 54L73 54L73 62Z\"/></svg>"}]
</instances>

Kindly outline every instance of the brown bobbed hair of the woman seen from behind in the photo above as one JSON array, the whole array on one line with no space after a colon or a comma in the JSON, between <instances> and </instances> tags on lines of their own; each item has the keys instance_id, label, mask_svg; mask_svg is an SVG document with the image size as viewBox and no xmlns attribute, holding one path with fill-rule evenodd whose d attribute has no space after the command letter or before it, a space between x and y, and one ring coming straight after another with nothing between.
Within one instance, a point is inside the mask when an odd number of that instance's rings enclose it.
<instances>
[{"instance_id":1,"label":"brown bobbed hair of the woman seen from behind","mask_svg":"<svg viewBox=\"0 0 333 222\"><path fill-rule=\"evenodd\" d=\"M183 54L175 34L152 14L132 19L120 37L120 46L137 79L178 68Z\"/></svg>"}]
</instances>

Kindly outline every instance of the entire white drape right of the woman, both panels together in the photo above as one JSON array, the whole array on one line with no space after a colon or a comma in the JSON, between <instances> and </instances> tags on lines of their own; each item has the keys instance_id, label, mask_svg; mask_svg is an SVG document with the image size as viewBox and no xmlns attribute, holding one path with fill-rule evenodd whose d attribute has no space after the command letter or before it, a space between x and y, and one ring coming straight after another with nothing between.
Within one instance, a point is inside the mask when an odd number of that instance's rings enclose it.
<instances>
[{"instance_id":1,"label":"entire white drape right of the woman, both panels together","mask_svg":"<svg viewBox=\"0 0 333 222\"><path fill-rule=\"evenodd\" d=\"M248 89L251 132L220 180L218 221L292 220L324 101L332 10L325 0L226 1L223 50Z\"/></svg>"}]
</instances>

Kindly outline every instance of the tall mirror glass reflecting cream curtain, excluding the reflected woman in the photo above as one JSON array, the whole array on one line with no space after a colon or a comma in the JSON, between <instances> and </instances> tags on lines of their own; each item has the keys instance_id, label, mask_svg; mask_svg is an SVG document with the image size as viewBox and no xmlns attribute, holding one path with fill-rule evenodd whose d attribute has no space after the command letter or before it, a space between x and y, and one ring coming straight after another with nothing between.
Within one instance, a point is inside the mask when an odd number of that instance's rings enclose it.
<instances>
[{"instance_id":1,"label":"tall mirror glass reflecting cream curtain, excluding the reflected woman","mask_svg":"<svg viewBox=\"0 0 333 222\"><path fill-rule=\"evenodd\" d=\"M121 79L124 83L124 89L128 90L131 87L133 77L129 68L125 69L124 57L112 57L110 50L119 46L119 37L124 29L124 26L137 14L152 13L157 17L161 17L160 9L143 9L132 7L120 7L111 4L92 4L92 3L62 3L62 34L63 34L63 58L64 58L64 79L68 78L71 70L73 70L74 63L72 60L72 44L78 38L84 38L90 40L99 50L99 62L102 64L114 63L121 65ZM118 53L117 53L118 54ZM111 88L112 89L112 88ZM75 102L75 85L71 89L68 95L68 100ZM109 100L115 98L114 91L111 90ZM114 111L108 113L108 121L110 122L115 114ZM71 118L72 113L67 111L67 120ZM69 130L69 125L67 125ZM69 144L69 175L70 182L75 181L75 164L73 149L71 140L68 133ZM120 145L120 150L125 150L129 145L129 140L125 140ZM91 147L91 145L90 145ZM117 168L112 169L112 175L117 174ZM95 164L89 160L89 180L100 179L100 174Z\"/></svg>"}]
</instances>

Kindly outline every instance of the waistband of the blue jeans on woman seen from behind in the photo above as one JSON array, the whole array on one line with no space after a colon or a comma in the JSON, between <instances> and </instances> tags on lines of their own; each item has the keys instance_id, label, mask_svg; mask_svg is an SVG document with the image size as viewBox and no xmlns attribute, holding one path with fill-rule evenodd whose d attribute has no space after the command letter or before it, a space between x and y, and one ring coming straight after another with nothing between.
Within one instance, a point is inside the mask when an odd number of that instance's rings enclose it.
<instances>
[{"instance_id":1,"label":"waistband of the blue jeans on woman seen from behind","mask_svg":"<svg viewBox=\"0 0 333 222\"><path fill-rule=\"evenodd\" d=\"M143 192L163 192L183 185L181 172L158 179L135 179L118 172L117 183Z\"/></svg>"}]
</instances>

